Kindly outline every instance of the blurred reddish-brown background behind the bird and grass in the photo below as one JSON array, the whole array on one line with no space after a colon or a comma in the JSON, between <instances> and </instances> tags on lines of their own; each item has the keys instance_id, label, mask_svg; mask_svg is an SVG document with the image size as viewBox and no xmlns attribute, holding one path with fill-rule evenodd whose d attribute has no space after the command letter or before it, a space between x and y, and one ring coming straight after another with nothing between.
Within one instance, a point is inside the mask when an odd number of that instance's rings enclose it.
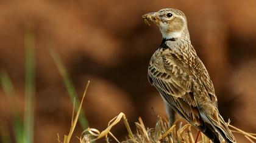
<instances>
[{"instance_id":1,"label":"blurred reddish-brown background behind the bird and grass","mask_svg":"<svg viewBox=\"0 0 256 143\"><path fill-rule=\"evenodd\" d=\"M15 86L24 108L24 27L34 25L36 46L35 142L57 142L68 133L72 102L49 55L60 54L79 95L90 80L84 110L90 127L100 130L119 112L132 128L138 117L146 127L165 114L147 79L148 62L162 41L158 28L141 15L178 8L188 19L191 41L215 85L224 119L256 132L256 1L0 1L0 70ZM7 99L0 88L0 119L11 128ZM113 133L126 135L122 125ZM77 126L75 135L80 136ZM238 142L246 142L236 136ZM79 142L74 139L74 142ZM101 142L101 141L99 141Z\"/></svg>"}]
</instances>

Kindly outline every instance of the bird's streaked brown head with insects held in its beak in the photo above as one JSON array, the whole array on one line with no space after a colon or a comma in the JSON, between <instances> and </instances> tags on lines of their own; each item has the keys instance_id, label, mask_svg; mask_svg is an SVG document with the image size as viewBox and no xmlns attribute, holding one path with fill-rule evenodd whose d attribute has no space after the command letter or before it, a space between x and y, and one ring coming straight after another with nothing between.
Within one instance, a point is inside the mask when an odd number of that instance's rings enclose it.
<instances>
[{"instance_id":1,"label":"bird's streaked brown head with insects held in its beak","mask_svg":"<svg viewBox=\"0 0 256 143\"><path fill-rule=\"evenodd\" d=\"M156 24L165 39L178 39L183 36L184 31L187 32L187 19L180 10L165 8L158 12L147 13L142 18L148 25L150 25L149 21Z\"/></svg>"}]
</instances>

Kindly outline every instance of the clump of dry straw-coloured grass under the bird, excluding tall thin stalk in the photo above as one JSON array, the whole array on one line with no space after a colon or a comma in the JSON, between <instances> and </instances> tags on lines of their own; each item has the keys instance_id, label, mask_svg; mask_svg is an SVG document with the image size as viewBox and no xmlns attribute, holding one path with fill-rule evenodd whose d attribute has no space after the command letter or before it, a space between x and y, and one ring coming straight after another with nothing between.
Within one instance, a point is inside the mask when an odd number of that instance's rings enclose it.
<instances>
[{"instance_id":1,"label":"clump of dry straw-coloured grass under the bird, excluding tall thin stalk","mask_svg":"<svg viewBox=\"0 0 256 143\"><path fill-rule=\"evenodd\" d=\"M120 113L119 115L125 116L123 113ZM118 116L119 116L118 115ZM116 117L114 118L116 119ZM179 121L179 119L177 120ZM168 128L168 121L163 116L158 116L157 123L155 124L155 127L153 128L146 128L144 126L144 123L141 118L139 118L139 122L135 122L135 125L137 126L137 131L131 133L128 131L129 138L125 141L122 141L123 143L143 143L143 142L149 142L149 143L158 143L158 142L169 142L169 143L179 143L179 142L187 142L187 143L195 143L195 142L201 142L201 143L211 143L210 139L207 138L203 133L199 132L197 136L194 138L191 132L191 125L190 124L183 124L182 122L175 122L174 125L172 125L171 128ZM111 121L110 121L111 122ZM119 122L119 121L118 121ZM128 124L127 119L124 119L125 124ZM115 125L117 122L115 122ZM110 127L111 124L108 124L108 127ZM113 124L112 124L113 127ZM239 128L234 127L233 125L229 125L230 128L232 128L233 133L238 133L241 135L244 135L244 137L249 142L255 142L256 141L256 135L254 133L247 133L246 131L243 131ZM107 129L106 129L107 130ZM130 130L130 128L127 128L127 130ZM105 130L104 130L105 131ZM108 138L108 134L115 139L115 141L118 141L118 139L115 138L115 136L111 133L110 128L107 130L107 132L100 132L96 130L95 128L88 128L83 132L83 134L80 137L80 143L86 143L90 141L95 141L96 139L103 138L105 136L105 141L109 142L110 139ZM104 136L102 136L102 133L104 133ZM222 143L225 141L223 140Z\"/></svg>"}]
</instances>

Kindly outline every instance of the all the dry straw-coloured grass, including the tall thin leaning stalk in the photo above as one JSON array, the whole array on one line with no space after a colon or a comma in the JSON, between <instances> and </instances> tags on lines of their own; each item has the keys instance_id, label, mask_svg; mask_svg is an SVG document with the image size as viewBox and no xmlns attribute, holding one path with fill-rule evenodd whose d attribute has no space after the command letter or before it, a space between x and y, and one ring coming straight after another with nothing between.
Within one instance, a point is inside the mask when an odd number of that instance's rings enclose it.
<instances>
[{"instance_id":1,"label":"all the dry straw-coloured grass, including the tall thin leaning stalk","mask_svg":"<svg viewBox=\"0 0 256 143\"><path fill-rule=\"evenodd\" d=\"M88 82L89 84L90 82ZM80 108L82 107L82 103L84 101L86 91L88 88L85 88L84 96L82 98L82 101L79 106L79 110L77 111L76 116L72 118L71 128L69 130L68 136L64 136L63 143L69 143L71 136L73 135L73 131L76 127L77 119L80 113ZM74 110L73 110L74 111ZM111 129L113 126L117 125L121 120L123 119L124 124L126 125L127 129L127 139L126 141L119 141L111 132ZM179 120L179 119L178 119ZM190 124L182 124L182 122L175 122L174 125L172 125L171 128L168 128L168 121L163 116L158 116L157 123L155 124L155 127L153 128L146 128L144 126L144 123L141 118L138 119L138 122L135 122L137 126L137 130L135 132L132 132L130 129L130 125L127 121L126 115L124 113L119 113L118 116L113 118L110 122L108 122L108 126L105 130L99 131L95 128L88 127L87 130L84 130L80 138L77 137L80 141L80 143L90 143L94 142L97 139L105 138L105 142L110 142L110 138L112 138L112 141L115 140L115 142L123 142L123 143L143 143L143 142L149 142L149 143L160 143L160 142L170 142L170 143L180 143L180 142L201 142L201 143L211 143L206 136L202 133L197 133L197 136L194 137L191 132L191 125ZM234 127L233 125L229 124L230 129L232 129L233 133L239 133L241 135L244 135L246 139L248 139L249 142L256 141L256 134L255 133L247 133L246 131L240 130L239 128ZM111 136L109 138L109 136ZM59 143L60 138L58 135L58 141ZM225 141L222 141L223 143Z\"/></svg>"}]
</instances>

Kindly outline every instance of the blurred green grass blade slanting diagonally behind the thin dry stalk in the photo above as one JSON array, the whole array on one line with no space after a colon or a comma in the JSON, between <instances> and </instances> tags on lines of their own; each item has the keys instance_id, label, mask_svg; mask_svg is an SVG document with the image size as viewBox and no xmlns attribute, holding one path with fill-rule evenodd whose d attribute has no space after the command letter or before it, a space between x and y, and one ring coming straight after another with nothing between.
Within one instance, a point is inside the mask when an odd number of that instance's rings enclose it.
<instances>
[{"instance_id":1,"label":"blurred green grass blade slanting diagonally behind the thin dry stalk","mask_svg":"<svg viewBox=\"0 0 256 143\"><path fill-rule=\"evenodd\" d=\"M75 110L77 111L80 105L76 90L74 89L74 86L71 82L71 79L68 76L68 72L66 71L66 68L64 67L62 61L59 58L59 55L54 50L51 50L51 56L54 59L55 64L57 65L57 68L60 72L60 75L62 76L64 82L65 82L65 87L66 90L68 90L68 94L71 98L71 101L74 104ZM79 123L81 127L85 130L88 127L88 122L87 119L85 118L84 111L80 111L80 116L79 116Z\"/></svg>"}]
</instances>

